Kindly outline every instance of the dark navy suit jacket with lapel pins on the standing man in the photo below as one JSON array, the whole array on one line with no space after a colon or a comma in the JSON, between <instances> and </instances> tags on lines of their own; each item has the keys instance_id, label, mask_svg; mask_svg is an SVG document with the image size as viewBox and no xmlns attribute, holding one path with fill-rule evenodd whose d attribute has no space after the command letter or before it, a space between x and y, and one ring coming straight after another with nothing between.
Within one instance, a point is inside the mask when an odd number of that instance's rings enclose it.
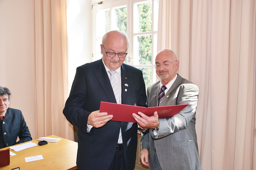
<instances>
[{"instance_id":1,"label":"dark navy suit jacket with lapel pins on the standing man","mask_svg":"<svg viewBox=\"0 0 256 170\"><path fill-rule=\"evenodd\" d=\"M121 82L122 104L147 106L142 71L122 64ZM121 127L126 167L133 170L137 149L137 123L109 121L100 128L93 127L89 133L86 131L88 116L99 110L101 101L116 103L102 59L76 69L70 95L63 110L67 120L78 128L77 167L79 170L108 170Z\"/></svg>"}]
</instances>

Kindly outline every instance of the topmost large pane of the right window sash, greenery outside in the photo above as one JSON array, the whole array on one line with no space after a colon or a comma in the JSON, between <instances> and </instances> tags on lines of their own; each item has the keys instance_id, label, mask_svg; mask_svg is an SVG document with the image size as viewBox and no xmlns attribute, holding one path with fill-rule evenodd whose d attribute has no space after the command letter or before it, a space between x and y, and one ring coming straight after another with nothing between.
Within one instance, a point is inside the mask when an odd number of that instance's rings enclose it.
<instances>
[{"instance_id":1,"label":"topmost large pane of the right window sash, greenery outside","mask_svg":"<svg viewBox=\"0 0 256 170\"><path fill-rule=\"evenodd\" d=\"M134 3L134 33L152 30L152 2Z\"/></svg>"}]
</instances>

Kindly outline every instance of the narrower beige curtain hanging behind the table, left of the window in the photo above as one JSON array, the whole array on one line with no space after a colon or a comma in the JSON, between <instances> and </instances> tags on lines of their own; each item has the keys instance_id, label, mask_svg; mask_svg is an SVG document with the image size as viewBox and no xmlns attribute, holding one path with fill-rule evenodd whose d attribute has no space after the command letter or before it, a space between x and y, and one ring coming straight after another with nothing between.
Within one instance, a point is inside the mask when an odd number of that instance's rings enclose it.
<instances>
[{"instance_id":1,"label":"narrower beige curtain hanging behind the table, left of the window","mask_svg":"<svg viewBox=\"0 0 256 170\"><path fill-rule=\"evenodd\" d=\"M62 110L68 97L65 0L35 0L36 137L74 140Z\"/></svg>"}]
</instances>

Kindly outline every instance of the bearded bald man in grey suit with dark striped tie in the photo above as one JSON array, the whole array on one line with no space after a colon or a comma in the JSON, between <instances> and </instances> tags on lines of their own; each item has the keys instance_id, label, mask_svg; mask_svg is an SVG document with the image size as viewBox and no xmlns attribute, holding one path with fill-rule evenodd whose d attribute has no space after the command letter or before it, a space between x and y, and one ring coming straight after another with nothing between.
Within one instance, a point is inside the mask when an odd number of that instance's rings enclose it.
<instances>
[{"instance_id":1,"label":"bearded bald man in grey suit with dark striped tie","mask_svg":"<svg viewBox=\"0 0 256 170\"><path fill-rule=\"evenodd\" d=\"M141 112L140 116L133 114L143 132L140 159L150 170L202 169L195 129L199 89L178 75L178 68L175 52L164 49L156 55L155 69L161 81L148 87L147 105L189 105L163 119L158 118L157 112L151 117Z\"/></svg>"}]
</instances>

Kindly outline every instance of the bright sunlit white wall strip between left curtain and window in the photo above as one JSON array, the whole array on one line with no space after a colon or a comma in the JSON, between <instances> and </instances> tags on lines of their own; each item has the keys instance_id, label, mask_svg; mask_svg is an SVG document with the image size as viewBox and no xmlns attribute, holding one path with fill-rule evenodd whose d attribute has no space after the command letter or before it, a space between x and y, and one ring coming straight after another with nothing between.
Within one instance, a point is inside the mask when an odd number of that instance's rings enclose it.
<instances>
[{"instance_id":1,"label":"bright sunlit white wall strip between left curtain and window","mask_svg":"<svg viewBox=\"0 0 256 170\"><path fill-rule=\"evenodd\" d=\"M69 91L76 68L93 61L92 1L67 1Z\"/></svg>"}]
</instances>

